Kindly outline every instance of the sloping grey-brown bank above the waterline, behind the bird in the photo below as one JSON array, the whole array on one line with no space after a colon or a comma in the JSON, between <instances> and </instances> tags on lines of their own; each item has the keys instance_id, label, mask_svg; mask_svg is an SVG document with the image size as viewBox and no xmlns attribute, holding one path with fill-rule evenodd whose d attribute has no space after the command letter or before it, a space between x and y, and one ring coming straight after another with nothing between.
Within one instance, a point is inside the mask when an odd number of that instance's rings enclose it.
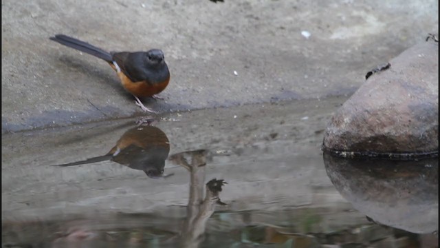
<instances>
[{"instance_id":1,"label":"sloping grey-brown bank above the waterline, behind the bird","mask_svg":"<svg viewBox=\"0 0 440 248\"><path fill-rule=\"evenodd\" d=\"M142 114L98 59L161 48L160 112L349 95L364 74L437 32L438 1L2 1L2 132ZM310 36L307 38L307 31Z\"/></svg>"}]
</instances>

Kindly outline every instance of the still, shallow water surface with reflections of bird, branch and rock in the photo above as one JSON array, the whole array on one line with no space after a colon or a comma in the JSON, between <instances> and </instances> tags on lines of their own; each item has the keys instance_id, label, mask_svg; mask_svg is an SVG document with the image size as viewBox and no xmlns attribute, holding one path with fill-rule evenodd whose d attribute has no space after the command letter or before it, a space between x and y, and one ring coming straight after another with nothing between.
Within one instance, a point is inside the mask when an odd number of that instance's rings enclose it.
<instances>
[{"instance_id":1,"label":"still, shallow water surface with reflections of bird, branch and rock","mask_svg":"<svg viewBox=\"0 0 440 248\"><path fill-rule=\"evenodd\" d=\"M438 161L322 154L344 100L5 134L2 244L436 247Z\"/></svg>"}]
</instances>

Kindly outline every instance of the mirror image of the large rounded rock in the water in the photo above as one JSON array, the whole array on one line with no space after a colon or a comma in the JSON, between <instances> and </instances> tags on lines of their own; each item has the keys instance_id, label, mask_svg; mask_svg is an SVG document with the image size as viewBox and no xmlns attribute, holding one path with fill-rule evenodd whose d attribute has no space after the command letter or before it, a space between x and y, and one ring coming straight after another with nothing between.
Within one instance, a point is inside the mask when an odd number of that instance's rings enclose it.
<instances>
[{"instance_id":1,"label":"mirror image of the large rounded rock in the water","mask_svg":"<svg viewBox=\"0 0 440 248\"><path fill-rule=\"evenodd\" d=\"M336 189L369 220L415 234L437 232L437 158L420 161L354 159L325 152L324 163Z\"/></svg>"}]
</instances>

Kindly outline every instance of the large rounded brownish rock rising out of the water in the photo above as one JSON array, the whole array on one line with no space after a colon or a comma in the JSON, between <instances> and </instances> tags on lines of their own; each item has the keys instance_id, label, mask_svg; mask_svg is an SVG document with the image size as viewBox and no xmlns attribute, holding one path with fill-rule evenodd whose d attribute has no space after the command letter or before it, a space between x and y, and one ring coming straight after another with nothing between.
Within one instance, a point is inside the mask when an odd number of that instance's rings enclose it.
<instances>
[{"instance_id":1,"label":"large rounded brownish rock rising out of the water","mask_svg":"<svg viewBox=\"0 0 440 248\"><path fill-rule=\"evenodd\" d=\"M420 43L373 74L331 118L323 148L339 154L439 150L439 46Z\"/></svg>"}]
</instances>

